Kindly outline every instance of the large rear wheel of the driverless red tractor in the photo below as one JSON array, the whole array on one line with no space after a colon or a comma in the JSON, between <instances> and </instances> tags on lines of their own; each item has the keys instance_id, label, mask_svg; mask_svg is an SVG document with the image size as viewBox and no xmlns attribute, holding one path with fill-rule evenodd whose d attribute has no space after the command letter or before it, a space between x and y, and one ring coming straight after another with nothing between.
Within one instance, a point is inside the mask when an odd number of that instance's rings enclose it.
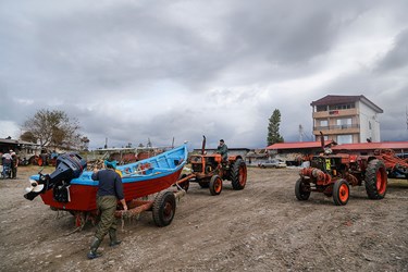
<instances>
[{"instance_id":1,"label":"large rear wheel of the driverless red tractor","mask_svg":"<svg viewBox=\"0 0 408 272\"><path fill-rule=\"evenodd\" d=\"M371 160L366 171L366 190L371 199L382 199L387 187L385 164L381 160Z\"/></svg>"}]
</instances>

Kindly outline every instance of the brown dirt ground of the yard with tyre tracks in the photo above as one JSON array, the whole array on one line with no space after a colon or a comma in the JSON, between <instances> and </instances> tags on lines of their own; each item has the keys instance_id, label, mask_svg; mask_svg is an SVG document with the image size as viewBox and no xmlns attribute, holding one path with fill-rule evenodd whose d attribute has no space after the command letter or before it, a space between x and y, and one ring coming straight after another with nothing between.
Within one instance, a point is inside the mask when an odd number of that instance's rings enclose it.
<instances>
[{"instance_id":1,"label":"brown dirt ground of the yard with tyre tracks","mask_svg":"<svg viewBox=\"0 0 408 272\"><path fill-rule=\"evenodd\" d=\"M71 214L23 198L38 169L18 171L0 181L0 271L408 271L406 180L390 180L383 200L353 187L336 207L323 194L298 201L298 170L248 169L244 190L227 182L210 196L193 183L171 225L145 212L124 221L122 245L106 237L103 256L87 260L95 226L72 233Z\"/></svg>"}]
</instances>

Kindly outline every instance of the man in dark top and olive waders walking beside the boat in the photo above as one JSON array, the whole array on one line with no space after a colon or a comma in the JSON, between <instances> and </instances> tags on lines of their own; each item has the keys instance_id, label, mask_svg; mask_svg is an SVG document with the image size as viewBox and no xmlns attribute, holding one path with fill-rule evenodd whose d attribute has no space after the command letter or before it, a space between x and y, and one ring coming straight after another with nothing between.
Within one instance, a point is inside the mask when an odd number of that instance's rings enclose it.
<instances>
[{"instance_id":1,"label":"man in dark top and olive waders walking beside the boat","mask_svg":"<svg viewBox=\"0 0 408 272\"><path fill-rule=\"evenodd\" d=\"M121 244L121 240L116 237L116 219L114 218L118 199L121 201L123 209L125 211L127 210L123 195L122 178L115 172L116 162L104 161L104 165L106 169L101 171L94 169L91 176L94 181L99 181L97 207L101 214L95 237L90 244L88 259L95 259L101 256L97 252L97 249L108 233L111 239L109 246L114 247Z\"/></svg>"}]
</instances>

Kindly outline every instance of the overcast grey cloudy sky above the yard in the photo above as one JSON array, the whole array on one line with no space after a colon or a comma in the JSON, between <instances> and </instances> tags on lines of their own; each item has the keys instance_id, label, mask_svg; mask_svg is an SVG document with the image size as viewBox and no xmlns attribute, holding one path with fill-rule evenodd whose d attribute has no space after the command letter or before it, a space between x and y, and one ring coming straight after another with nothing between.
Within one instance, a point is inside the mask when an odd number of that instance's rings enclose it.
<instances>
[{"instance_id":1,"label":"overcast grey cloudy sky above the yard","mask_svg":"<svg viewBox=\"0 0 408 272\"><path fill-rule=\"evenodd\" d=\"M312 140L311 106L363 95L408 140L408 1L0 1L0 138L40 109L90 147Z\"/></svg>"}]
</instances>

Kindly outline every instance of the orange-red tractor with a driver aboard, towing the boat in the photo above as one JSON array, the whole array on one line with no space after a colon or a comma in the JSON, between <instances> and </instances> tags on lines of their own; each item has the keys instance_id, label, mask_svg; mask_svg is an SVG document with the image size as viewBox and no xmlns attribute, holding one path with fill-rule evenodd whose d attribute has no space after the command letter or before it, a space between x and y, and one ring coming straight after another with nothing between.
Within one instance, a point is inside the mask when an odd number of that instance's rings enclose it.
<instances>
[{"instance_id":1,"label":"orange-red tractor with a driver aboard, towing the boat","mask_svg":"<svg viewBox=\"0 0 408 272\"><path fill-rule=\"evenodd\" d=\"M196 182L201 188L209 188L212 196L221 194L224 180L231 181L234 189L244 189L247 183L247 165L244 159L240 156L230 156L227 160L222 160L220 153L208 154L205 148L203 136L201 153L193 154L189 159L191 174L184 174L177 184L187 190L189 182Z\"/></svg>"}]
</instances>

